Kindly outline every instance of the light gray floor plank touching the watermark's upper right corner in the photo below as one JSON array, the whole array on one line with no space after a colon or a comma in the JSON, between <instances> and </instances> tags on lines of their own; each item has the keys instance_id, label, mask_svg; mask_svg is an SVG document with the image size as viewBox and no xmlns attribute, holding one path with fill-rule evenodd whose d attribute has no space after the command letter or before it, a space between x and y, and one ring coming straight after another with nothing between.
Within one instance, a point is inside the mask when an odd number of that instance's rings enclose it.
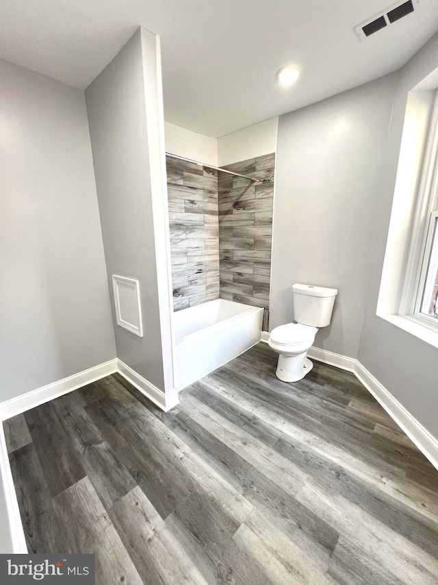
<instances>
[{"instance_id":1,"label":"light gray floor plank touching the watermark's upper right corner","mask_svg":"<svg viewBox=\"0 0 438 585\"><path fill-rule=\"evenodd\" d=\"M88 477L53 498L69 553L96 555L96 585L142 585Z\"/></svg>"}]
</instances>

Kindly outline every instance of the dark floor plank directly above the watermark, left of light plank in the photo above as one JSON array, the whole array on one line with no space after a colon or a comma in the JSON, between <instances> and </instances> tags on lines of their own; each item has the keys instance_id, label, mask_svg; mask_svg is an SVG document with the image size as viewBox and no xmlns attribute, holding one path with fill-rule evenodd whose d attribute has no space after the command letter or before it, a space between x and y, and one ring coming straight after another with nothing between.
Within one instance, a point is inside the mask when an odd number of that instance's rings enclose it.
<instances>
[{"instance_id":1,"label":"dark floor plank directly above the watermark, left of light plank","mask_svg":"<svg viewBox=\"0 0 438 585\"><path fill-rule=\"evenodd\" d=\"M29 443L14 450L10 454L10 466L27 550L47 554L66 552L34 445Z\"/></svg>"}]
</instances>

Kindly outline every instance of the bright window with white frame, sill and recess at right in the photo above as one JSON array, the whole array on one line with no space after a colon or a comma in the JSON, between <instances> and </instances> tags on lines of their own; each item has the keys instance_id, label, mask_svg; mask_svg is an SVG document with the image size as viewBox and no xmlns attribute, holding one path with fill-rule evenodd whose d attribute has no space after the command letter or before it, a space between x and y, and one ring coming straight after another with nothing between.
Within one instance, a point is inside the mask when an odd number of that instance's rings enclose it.
<instances>
[{"instance_id":1,"label":"bright window with white frame, sill and recess at right","mask_svg":"<svg viewBox=\"0 0 438 585\"><path fill-rule=\"evenodd\" d=\"M438 69L407 95L376 314L438 348Z\"/></svg>"}]
</instances>

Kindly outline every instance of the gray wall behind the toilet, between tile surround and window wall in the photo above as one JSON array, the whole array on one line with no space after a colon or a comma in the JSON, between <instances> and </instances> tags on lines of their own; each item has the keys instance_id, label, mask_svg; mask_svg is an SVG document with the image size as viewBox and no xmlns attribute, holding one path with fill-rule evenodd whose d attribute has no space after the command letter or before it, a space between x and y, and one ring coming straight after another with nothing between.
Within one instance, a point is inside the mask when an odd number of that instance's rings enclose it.
<instances>
[{"instance_id":1,"label":"gray wall behind the toilet, between tile surround and window wall","mask_svg":"<svg viewBox=\"0 0 438 585\"><path fill-rule=\"evenodd\" d=\"M293 320L294 283L335 287L331 325L315 346L353 358L396 80L387 75L279 118L270 330Z\"/></svg>"}]
</instances>

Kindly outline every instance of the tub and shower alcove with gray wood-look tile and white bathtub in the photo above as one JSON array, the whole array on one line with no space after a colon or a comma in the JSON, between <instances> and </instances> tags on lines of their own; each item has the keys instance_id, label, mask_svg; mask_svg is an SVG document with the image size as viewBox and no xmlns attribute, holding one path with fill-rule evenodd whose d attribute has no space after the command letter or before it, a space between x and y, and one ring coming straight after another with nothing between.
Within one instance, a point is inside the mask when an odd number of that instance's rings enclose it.
<instances>
[{"instance_id":1,"label":"tub and shower alcove with gray wood-look tile and white bathtub","mask_svg":"<svg viewBox=\"0 0 438 585\"><path fill-rule=\"evenodd\" d=\"M218 169L166 154L179 390L268 329L274 163Z\"/></svg>"}]
</instances>

